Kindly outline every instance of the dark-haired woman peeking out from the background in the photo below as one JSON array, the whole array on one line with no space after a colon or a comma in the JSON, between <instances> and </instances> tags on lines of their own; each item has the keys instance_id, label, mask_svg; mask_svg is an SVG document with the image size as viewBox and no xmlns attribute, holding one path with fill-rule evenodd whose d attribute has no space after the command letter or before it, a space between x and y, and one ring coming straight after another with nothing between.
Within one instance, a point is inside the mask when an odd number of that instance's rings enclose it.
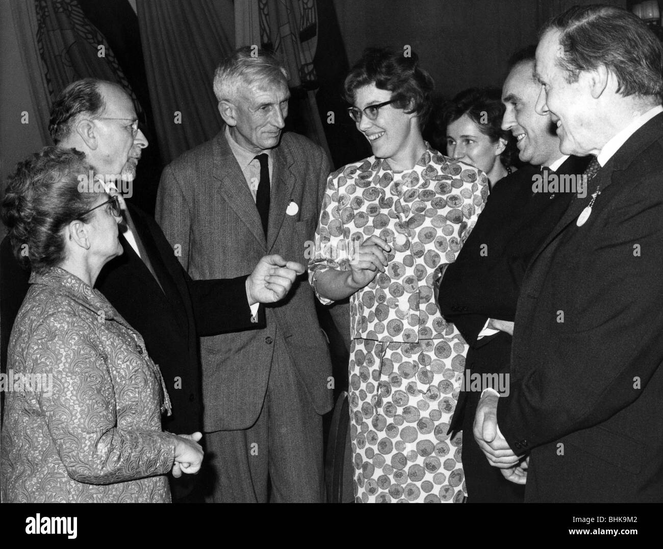
<instances>
[{"instance_id":1,"label":"dark-haired woman peeking out from the background","mask_svg":"<svg viewBox=\"0 0 663 549\"><path fill-rule=\"evenodd\" d=\"M470 88L453 97L440 116L447 154L485 172L491 189L516 169L513 136L501 127L504 109L499 88Z\"/></svg>"}]
</instances>

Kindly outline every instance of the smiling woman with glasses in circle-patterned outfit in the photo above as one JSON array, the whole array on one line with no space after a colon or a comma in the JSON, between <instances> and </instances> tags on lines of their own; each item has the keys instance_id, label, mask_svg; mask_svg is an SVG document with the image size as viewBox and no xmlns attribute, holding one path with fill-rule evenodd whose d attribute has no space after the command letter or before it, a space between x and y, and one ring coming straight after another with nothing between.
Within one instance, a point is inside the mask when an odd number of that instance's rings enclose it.
<instances>
[{"instance_id":1,"label":"smiling woman with glasses in circle-patterned outfit","mask_svg":"<svg viewBox=\"0 0 663 549\"><path fill-rule=\"evenodd\" d=\"M373 156L327 184L310 282L351 296L349 406L357 502L459 502L461 436L447 433L467 345L434 300L483 208L483 172L432 149L421 127L434 84L414 54L371 49L345 79Z\"/></svg>"}]
</instances>

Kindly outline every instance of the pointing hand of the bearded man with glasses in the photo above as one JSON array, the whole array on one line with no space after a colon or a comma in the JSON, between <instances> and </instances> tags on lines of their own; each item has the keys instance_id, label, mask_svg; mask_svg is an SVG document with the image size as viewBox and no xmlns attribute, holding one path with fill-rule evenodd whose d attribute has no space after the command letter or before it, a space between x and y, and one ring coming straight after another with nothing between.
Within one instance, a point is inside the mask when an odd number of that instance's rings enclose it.
<instances>
[{"instance_id":1,"label":"pointing hand of the bearded man with glasses","mask_svg":"<svg viewBox=\"0 0 663 549\"><path fill-rule=\"evenodd\" d=\"M306 268L301 263L286 261L280 255L266 255L247 278L249 305L274 303L282 300L292 288L292 282Z\"/></svg>"}]
</instances>

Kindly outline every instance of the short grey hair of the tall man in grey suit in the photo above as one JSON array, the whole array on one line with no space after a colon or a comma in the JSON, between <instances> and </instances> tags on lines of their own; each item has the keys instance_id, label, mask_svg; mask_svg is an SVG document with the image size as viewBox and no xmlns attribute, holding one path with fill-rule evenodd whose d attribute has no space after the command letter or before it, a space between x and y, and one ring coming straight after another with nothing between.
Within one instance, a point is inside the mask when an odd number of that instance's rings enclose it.
<instances>
[{"instance_id":1,"label":"short grey hair of the tall man in grey suit","mask_svg":"<svg viewBox=\"0 0 663 549\"><path fill-rule=\"evenodd\" d=\"M255 46L239 48L227 56L214 72L217 101L233 101L240 86L288 85L288 71L272 54Z\"/></svg>"}]
</instances>

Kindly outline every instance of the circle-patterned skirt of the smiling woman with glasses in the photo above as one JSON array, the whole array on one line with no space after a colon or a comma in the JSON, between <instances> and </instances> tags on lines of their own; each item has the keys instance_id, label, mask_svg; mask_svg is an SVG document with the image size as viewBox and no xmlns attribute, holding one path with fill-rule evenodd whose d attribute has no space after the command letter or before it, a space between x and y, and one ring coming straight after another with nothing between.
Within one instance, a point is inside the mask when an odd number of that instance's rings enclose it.
<instances>
[{"instance_id":1,"label":"circle-patterned skirt of the smiling woman with glasses","mask_svg":"<svg viewBox=\"0 0 663 549\"><path fill-rule=\"evenodd\" d=\"M447 434L467 344L455 326L416 343L353 339L350 437L357 503L461 503L462 434Z\"/></svg>"}]
</instances>

